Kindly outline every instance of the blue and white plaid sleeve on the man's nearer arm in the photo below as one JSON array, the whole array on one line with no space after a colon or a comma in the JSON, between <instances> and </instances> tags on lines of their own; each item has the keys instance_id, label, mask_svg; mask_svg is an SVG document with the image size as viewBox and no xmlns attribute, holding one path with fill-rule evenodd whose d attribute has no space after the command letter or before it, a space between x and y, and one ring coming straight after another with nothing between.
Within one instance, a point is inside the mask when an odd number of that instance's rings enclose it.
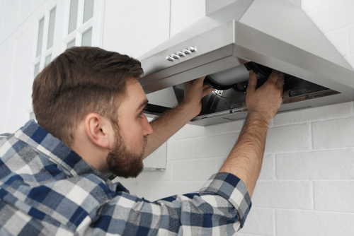
<instances>
[{"instance_id":1,"label":"blue and white plaid sleeve on the man's nearer arm","mask_svg":"<svg viewBox=\"0 0 354 236\"><path fill-rule=\"evenodd\" d=\"M84 235L234 235L251 208L244 182L222 172L198 192L154 202L119 192L105 203ZM81 234L79 233L79 234Z\"/></svg>"}]
</instances>

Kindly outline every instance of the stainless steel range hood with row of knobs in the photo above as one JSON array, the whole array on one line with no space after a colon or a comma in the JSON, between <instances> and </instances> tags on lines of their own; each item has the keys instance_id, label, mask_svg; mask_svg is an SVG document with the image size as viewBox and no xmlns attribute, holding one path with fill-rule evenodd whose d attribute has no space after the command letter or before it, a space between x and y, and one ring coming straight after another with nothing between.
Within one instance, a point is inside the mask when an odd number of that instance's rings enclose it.
<instances>
[{"instance_id":1,"label":"stainless steel range hood with row of knobs","mask_svg":"<svg viewBox=\"0 0 354 236\"><path fill-rule=\"evenodd\" d=\"M205 18L139 58L148 97L165 89L155 97L178 100L182 83L253 61L312 87L285 98L280 112L353 100L352 67L298 6L285 0L207 0L206 11ZM216 90L202 100L202 113L192 124L242 119L243 100L242 90ZM163 111L159 104L146 110Z\"/></svg>"}]
</instances>

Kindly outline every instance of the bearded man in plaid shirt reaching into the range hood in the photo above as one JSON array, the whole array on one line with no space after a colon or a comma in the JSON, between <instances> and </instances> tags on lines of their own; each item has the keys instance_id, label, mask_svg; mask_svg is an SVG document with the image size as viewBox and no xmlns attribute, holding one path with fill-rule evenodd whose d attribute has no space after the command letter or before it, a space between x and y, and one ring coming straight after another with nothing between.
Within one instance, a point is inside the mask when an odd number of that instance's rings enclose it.
<instances>
[{"instance_id":1,"label":"bearded man in plaid shirt reaching into the range hood","mask_svg":"<svg viewBox=\"0 0 354 236\"><path fill-rule=\"evenodd\" d=\"M105 177L136 177L142 160L201 110L212 88L185 83L178 107L151 124L139 61L92 47L67 49L33 83L38 124L0 139L0 235L232 235L251 208L282 73L256 90L219 173L200 191L149 202Z\"/></svg>"}]
</instances>

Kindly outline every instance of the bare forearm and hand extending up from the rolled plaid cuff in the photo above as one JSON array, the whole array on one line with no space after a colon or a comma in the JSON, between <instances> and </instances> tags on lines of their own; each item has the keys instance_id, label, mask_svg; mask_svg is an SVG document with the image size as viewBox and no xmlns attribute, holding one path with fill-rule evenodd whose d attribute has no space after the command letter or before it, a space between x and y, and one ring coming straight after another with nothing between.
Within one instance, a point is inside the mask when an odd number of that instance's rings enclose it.
<instances>
[{"instance_id":1,"label":"bare forearm and hand extending up from the rolled plaid cuff","mask_svg":"<svg viewBox=\"0 0 354 236\"><path fill-rule=\"evenodd\" d=\"M256 88L256 73L250 71L246 105L249 110L244 128L219 172L229 172L242 179L250 196L261 172L268 124L282 102L284 73L272 71L261 87Z\"/></svg>"}]
</instances>

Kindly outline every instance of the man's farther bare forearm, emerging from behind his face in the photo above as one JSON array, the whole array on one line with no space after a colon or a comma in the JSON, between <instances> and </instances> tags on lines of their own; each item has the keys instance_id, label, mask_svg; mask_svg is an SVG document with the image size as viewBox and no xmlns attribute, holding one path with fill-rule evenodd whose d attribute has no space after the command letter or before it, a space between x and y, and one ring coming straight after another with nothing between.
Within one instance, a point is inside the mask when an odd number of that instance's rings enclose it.
<instances>
[{"instance_id":1,"label":"man's farther bare forearm, emerging from behind his face","mask_svg":"<svg viewBox=\"0 0 354 236\"><path fill-rule=\"evenodd\" d=\"M147 139L144 158L147 158L173 134L176 134L178 130L190 122L190 119L195 117L191 108L188 104L182 103L150 122L154 133L150 134Z\"/></svg>"}]
</instances>

